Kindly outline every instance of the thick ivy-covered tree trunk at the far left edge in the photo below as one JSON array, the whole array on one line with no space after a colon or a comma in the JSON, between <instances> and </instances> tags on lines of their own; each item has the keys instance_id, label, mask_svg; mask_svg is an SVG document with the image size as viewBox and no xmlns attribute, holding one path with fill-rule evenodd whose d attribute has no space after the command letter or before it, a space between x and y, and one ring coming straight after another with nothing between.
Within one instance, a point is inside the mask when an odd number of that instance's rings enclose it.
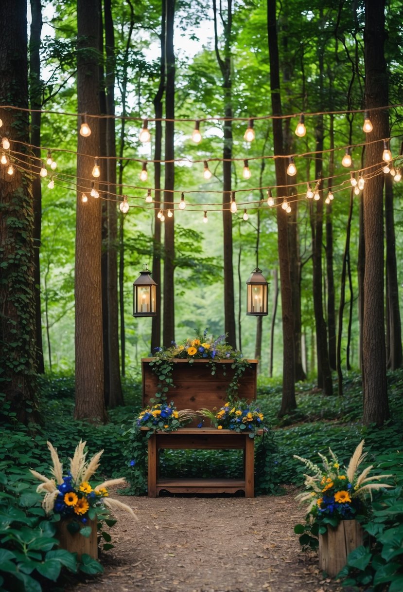
<instances>
[{"instance_id":1,"label":"thick ivy-covered tree trunk at the far left edge","mask_svg":"<svg viewBox=\"0 0 403 592\"><path fill-rule=\"evenodd\" d=\"M28 112L27 2L0 2L0 109L2 137L14 166L0 169L0 417L16 413L23 423L39 419L35 397L34 210ZM13 161L12 155L18 155ZM35 170L38 174L38 170Z\"/></svg>"}]
</instances>

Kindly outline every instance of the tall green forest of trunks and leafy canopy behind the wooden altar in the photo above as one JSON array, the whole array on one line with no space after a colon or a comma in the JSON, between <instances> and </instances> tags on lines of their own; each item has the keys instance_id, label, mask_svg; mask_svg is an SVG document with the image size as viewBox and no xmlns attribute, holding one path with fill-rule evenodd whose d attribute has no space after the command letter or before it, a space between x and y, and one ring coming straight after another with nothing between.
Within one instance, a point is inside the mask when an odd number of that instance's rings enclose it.
<instances>
[{"instance_id":1,"label":"tall green forest of trunks and leafy canopy behind the wooden altar","mask_svg":"<svg viewBox=\"0 0 403 592\"><path fill-rule=\"evenodd\" d=\"M0 471L43 470L28 442L67 455L64 430L89 433L144 494L123 427L142 358L225 340L259 362L271 427L335 422L345 461L368 434L395 474L402 16L394 0L0 3L0 417L17 446ZM295 441L323 450L325 432ZM273 437L256 466L274 449L284 465L259 493L301 485Z\"/></svg>"}]
</instances>

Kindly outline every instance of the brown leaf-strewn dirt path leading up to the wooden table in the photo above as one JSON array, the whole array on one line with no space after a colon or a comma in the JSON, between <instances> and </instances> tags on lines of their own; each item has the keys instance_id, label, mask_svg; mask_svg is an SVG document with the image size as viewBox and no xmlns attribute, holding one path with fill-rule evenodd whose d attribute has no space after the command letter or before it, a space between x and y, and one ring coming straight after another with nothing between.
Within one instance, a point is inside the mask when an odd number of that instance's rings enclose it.
<instances>
[{"instance_id":1,"label":"brown leaf-strewn dirt path leading up to the wooden table","mask_svg":"<svg viewBox=\"0 0 403 592\"><path fill-rule=\"evenodd\" d=\"M317 554L301 551L295 490L243 497L125 497L138 521L115 511L105 572L68 592L340 592Z\"/></svg>"}]
</instances>

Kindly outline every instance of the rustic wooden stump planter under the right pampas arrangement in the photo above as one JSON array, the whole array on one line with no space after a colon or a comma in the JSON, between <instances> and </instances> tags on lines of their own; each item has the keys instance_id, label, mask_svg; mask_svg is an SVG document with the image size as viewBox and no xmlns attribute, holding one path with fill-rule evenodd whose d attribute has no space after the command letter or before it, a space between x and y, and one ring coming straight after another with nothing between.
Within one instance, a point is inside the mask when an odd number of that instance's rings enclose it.
<instances>
[{"instance_id":1,"label":"rustic wooden stump planter under the right pampas arrangement","mask_svg":"<svg viewBox=\"0 0 403 592\"><path fill-rule=\"evenodd\" d=\"M319 569L334 578L347 563L347 555L362 545L362 528L357 520L342 520L319 535Z\"/></svg>"}]
</instances>

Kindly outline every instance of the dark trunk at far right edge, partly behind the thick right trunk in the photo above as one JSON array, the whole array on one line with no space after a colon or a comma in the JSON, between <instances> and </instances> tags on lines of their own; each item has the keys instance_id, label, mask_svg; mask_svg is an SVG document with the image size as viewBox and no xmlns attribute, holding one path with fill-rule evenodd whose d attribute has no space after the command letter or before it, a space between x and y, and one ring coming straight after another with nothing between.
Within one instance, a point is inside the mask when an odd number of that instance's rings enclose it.
<instances>
[{"instance_id":1,"label":"dark trunk at far right edge, partly behind the thick right trunk","mask_svg":"<svg viewBox=\"0 0 403 592\"><path fill-rule=\"evenodd\" d=\"M393 213L393 181L385 175L386 230L386 311L389 327L388 368L396 370L403 361L402 331L399 310L399 284L396 265L395 221Z\"/></svg>"}]
</instances>

